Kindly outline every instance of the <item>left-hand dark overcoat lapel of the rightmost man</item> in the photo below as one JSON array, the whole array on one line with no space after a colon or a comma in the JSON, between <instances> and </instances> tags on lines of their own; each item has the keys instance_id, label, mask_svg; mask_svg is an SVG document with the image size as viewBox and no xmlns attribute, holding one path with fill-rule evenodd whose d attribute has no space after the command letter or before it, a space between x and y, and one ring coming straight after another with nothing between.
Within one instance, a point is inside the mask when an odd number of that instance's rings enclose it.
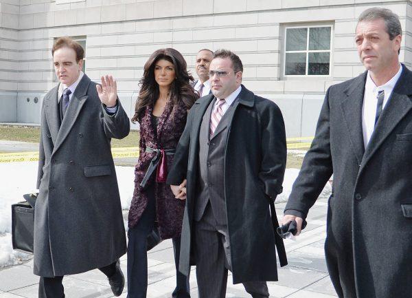
<instances>
[{"instance_id":1,"label":"left-hand dark overcoat lapel of the rightmost man","mask_svg":"<svg viewBox=\"0 0 412 298\"><path fill-rule=\"evenodd\" d=\"M344 93L347 98L341 103L343 118L345 119L345 124L350 134L350 145L354 151L356 160L358 160L358 164L361 164L363 153L365 152L362 131L362 106L366 75L367 72L364 72L345 89Z\"/></svg>"}]
</instances>

